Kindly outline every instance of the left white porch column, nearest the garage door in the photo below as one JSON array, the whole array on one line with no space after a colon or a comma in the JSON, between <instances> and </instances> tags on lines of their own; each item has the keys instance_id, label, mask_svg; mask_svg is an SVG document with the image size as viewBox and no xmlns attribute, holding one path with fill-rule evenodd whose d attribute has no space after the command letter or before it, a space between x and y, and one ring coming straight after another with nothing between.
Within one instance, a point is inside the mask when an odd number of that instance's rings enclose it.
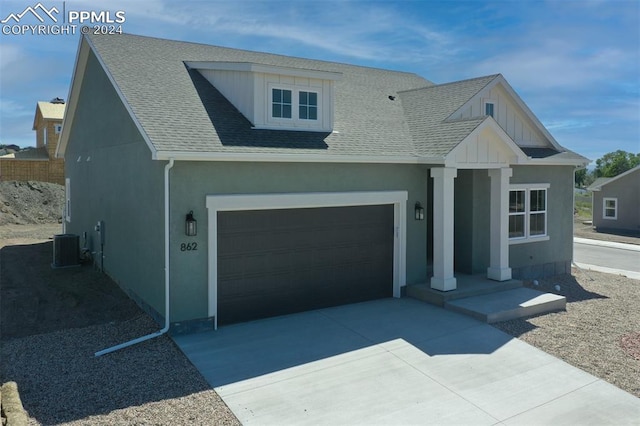
<instances>
[{"instance_id":1,"label":"left white porch column, nearest the garage door","mask_svg":"<svg viewBox=\"0 0 640 426\"><path fill-rule=\"evenodd\" d=\"M433 277L431 288L456 289L453 276L453 179L458 170L450 167L431 169L433 178Z\"/></svg>"}]
</instances>

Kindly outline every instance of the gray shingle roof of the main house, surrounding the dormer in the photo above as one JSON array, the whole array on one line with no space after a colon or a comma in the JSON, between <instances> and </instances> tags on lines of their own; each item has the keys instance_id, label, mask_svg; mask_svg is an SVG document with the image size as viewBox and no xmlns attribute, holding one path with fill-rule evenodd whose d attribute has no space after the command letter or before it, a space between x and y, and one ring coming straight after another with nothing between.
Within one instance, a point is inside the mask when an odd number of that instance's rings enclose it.
<instances>
[{"instance_id":1,"label":"gray shingle roof of the main house, surrounding the dormer","mask_svg":"<svg viewBox=\"0 0 640 426\"><path fill-rule=\"evenodd\" d=\"M85 37L149 143L163 158L177 153L182 157L191 153L205 157L274 153L444 159L483 121L491 119L454 120L452 114L487 85L502 79L497 74L434 85L412 73L336 62L136 35ZM187 62L216 61L339 73L334 131L252 128L213 85L186 66ZM560 162L584 160L567 152L532 154L544 159L549 154Z\"/></svg>"}]
</instances>

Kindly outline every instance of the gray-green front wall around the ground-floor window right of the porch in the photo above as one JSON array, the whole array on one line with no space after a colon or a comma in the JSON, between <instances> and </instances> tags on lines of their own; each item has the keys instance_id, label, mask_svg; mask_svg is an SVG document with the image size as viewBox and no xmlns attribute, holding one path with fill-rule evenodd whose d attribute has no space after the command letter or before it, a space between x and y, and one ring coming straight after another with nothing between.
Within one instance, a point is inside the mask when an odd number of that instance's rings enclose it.
<instances>
[{"instance_id":1,"label":"gray-green front wall around the ground-floor window right of the porch","mask_svg":"<svg viewBox=\"0 0 640 426\"><path fill-rule=\"evenodd\" d=\"M573 171L571 166L514 166L511 184L549 184L547 241L512 244L514 278L571 273L573 258Z\"/></svg>"}]
</instances>

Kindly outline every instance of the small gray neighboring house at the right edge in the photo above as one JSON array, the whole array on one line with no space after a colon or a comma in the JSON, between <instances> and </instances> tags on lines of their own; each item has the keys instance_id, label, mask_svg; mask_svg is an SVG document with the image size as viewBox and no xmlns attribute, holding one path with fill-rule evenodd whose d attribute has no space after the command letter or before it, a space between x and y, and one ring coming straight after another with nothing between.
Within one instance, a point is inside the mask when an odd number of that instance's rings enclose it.
<instances>
[{"instance_id":1,"label":"small gray neighboring house at the right edge","mask_svg":"<svg viewBox=\"0 0 640 426\"><path fill-rule=\"evenodd\" d=\"M593 226L599 231L640 235L640 166L611 178L598 178L593 191Z\"/></svg>"}]
</instances>

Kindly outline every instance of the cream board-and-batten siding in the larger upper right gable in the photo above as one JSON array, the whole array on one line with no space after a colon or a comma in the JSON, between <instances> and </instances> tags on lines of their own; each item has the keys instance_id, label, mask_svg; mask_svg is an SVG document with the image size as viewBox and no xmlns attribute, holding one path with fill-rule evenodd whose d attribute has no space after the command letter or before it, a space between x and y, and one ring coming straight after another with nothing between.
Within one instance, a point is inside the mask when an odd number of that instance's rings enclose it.
<instances>
[{"instance_id":1,"label":"cream board-and-batten siding in the larger upper right gable","mask_svg":"<svg viewBox=\"0 0 640 426\"><path fill-rule=\"evenodd\" d=\"M481 93L481 96L476 97L466 109L453 115L451 119L481 117L485 115L485 102L494 103L494 119L515 143L526 147L545 148L549 146L546 137L500 85Z\"/></svg>"}]
</instances>

